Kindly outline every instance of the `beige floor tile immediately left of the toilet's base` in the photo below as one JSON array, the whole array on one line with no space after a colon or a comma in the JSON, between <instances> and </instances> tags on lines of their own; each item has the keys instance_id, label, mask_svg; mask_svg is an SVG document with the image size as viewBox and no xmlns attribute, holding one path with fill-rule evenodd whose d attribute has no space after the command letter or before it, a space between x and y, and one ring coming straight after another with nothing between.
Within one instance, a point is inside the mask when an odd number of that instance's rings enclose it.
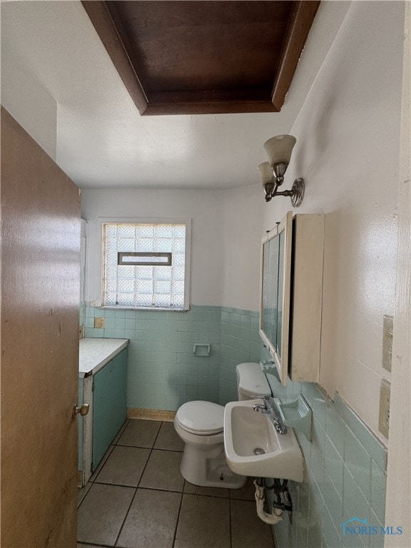
<instances>
[{"instance_id":1,"label":"beige floor tile immediately left of the toilet's base","mask_svg":"<svg viewBox=\"0 0 411 548\"><path fill-rule=\"evenodd\" d=\"M139 487L183 491L183 476L180 473L181 453L153 450Z\"/></svg>"}]
</instances>

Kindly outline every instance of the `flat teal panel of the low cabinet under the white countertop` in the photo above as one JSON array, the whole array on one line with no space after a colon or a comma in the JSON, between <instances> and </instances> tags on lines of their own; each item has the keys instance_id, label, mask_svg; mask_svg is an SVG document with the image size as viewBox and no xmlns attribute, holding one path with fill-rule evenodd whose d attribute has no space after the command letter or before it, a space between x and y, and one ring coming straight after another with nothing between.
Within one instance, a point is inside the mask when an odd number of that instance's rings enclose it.
<instances>
[{"instance_id":1,"label":"flat teal panel of the low cabinet under the white countertop","mask_svg":"<svg viewBox=\"0 0 411 548\"><path fill-rule=\"evenodd\" d=\"M94 375L92 470L126 420L126 375L127 350Z\"/></svg>"}]
</instances>

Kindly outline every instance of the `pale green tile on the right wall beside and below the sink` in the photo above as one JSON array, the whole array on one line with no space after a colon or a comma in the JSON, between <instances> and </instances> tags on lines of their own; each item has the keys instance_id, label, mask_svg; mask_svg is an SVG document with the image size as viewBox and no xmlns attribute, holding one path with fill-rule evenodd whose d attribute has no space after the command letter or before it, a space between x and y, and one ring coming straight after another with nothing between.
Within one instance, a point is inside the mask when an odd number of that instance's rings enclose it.
<instances>
[{"instance_id":1,"label":"pale green tile on the right wall beside and below the sink","mask_svg":"<svg viewBox=\"0 0 411 548\"><path fill-rule=\"evenodd\" d=\"M265 350L263 359L267 359ZM293 519L273 526L276 548L383 547L387 448L344 400L334 402L315 383L283 387L268 375L273 393L283 402L303 394L313 410L313 439L295 432L305 457L306 481L290 482ZM367 519L378 534L343 534L342 523ZM401 524L395 524L401 525Z\"/></svg>"}]
</instances>

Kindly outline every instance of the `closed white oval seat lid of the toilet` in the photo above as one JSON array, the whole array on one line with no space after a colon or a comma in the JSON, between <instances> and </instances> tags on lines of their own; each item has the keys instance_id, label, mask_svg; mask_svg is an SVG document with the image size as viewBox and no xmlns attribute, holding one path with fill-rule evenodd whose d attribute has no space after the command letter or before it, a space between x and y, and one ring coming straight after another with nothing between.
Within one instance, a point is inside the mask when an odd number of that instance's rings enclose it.
<instances>
[{"instance_id":1,"label":"closed white oval seat lid of the toilet","mask_svg":"<svg viewBox=\"0 0 411 548\"><path fill-rule=\"evenodd\" d=\"M187 402L176 413L178 425L196 435L212 435L223 432L224 407L211 402Z\"/></svg>"}]
</instances>

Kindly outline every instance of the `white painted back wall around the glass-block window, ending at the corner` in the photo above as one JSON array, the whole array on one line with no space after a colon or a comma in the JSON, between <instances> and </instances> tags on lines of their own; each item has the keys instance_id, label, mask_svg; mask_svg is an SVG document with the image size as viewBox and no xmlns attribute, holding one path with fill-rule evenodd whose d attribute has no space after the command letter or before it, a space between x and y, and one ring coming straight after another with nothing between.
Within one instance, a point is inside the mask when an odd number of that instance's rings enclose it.
<instances>
[{"instance_id":1,"label":"white painted back wall around the glass-block window, ending at the corner","mask_svg":"<svg viewBox=\"0 0 411 548\"><path fill-rule=\"evenodd\" d=\"M84 190L82 212L88 220L88 295L99 300L101 293L101 223L111 218L191 218L191 303L215 305L222 302L223 191Z\"/></svg>"}]
</instances>

